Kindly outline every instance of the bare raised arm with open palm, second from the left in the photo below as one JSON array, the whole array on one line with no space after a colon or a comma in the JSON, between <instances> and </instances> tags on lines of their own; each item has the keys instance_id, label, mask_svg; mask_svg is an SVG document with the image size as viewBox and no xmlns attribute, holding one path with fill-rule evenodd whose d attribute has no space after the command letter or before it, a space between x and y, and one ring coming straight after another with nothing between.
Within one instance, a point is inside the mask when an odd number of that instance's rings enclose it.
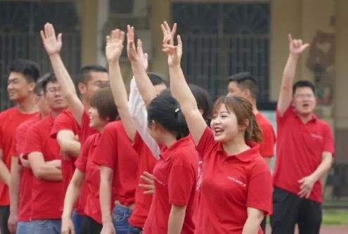
<instances>
[{"instance_id":1,"label":"bare raised arm with open palm, second from the left","mask_svg":"<svg viewBox=\"0 0 348 234\"><path fill-rule=\"evenodd\" d=\"M134 122L131 119L128 108L127 90L124 86L120 70L120 56L123 50L124 32L112 30L106 37L105 54L109 65L109 78L112 95L117 106L118 114L122 119L124 129L129 139L133 142L136 134Z\"/></svg>"}]
</instances>

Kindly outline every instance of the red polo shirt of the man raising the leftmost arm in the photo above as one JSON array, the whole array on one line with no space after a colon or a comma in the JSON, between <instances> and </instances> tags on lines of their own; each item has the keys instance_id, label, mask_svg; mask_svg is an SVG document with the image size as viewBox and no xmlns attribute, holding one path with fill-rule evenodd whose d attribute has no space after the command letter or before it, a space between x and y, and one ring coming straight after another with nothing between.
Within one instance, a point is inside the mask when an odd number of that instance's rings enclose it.
<instances>
[{"instance_id":1,"label":"red polo shirt of the man raising the leftmost arm","mask_svg":"<svg viewBox=\"0 0 348 234\"><path fill-rule=\"evenodd\" d=\"M79 136L79 142L81 143L81 145L83 145L84 141L86 141L86 138L91 134L96 134L97 131L91 129L91 127L89 126L89 114L88 112L86 112L86 110L84 110L84 113L82 115L81 123L82 126L79 126L79 124L77 124L75 117L74 115L72 115L72 112L70 110L64 110L54 120L51 136L53 138L56 138L58 131L70 130L75 135ZM72 175L75 171L75 160L76 157L73 156L69 156L68 160L62 160L63 186L65 191L67 190L67 186L69 186ZM85 184L83 184L76 206L76 212L78 214L84 214L84 207L86 206L86 194L87 187Z\"/></svg>"}]
</instances>

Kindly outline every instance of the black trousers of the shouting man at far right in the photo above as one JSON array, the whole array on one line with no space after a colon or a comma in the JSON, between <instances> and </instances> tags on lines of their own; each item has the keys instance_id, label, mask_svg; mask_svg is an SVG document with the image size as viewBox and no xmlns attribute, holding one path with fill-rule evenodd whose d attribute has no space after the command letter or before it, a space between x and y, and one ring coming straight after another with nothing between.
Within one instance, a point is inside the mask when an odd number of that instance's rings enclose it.
<instances>
[{"instance_id":1,"label":"black trousers of the shouting man at far right","mask_svg":"<svg viewBox=\"0 0 348 234\"><path fill-rule=\"evenodd\" d=\"M318 234L321 226L321 204L301 198L281 188L273 190L272 234Z\"/></svg>"}]
</instances>

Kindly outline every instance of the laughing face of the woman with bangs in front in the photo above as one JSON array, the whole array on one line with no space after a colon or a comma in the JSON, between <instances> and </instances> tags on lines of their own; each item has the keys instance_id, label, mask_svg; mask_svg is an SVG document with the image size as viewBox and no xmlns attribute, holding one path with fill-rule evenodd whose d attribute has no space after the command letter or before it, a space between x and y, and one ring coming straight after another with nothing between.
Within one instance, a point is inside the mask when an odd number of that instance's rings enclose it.
<instances>
[{"instance_id":1,"label":"laughing face of the woman with bangs in front","mask_svg":"<svg viewBox=\"0 0 348 234\"><path fill-rule=\"evenodd\" d=\"M238 126L236 114L227 110L226 105L221 103L214 112L210 127L214 133L214 140L221 143L233 141L243 131Z\"/></svg>"}]
</instances>

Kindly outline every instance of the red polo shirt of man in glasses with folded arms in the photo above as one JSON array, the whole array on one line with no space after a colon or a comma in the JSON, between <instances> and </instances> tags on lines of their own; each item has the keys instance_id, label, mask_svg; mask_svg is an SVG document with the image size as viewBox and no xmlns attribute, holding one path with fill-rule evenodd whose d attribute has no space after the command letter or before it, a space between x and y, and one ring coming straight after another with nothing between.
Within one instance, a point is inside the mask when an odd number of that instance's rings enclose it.
<instances>
[{"instance_id":1,"label":"red polo shirt of man in glasses with folded arms","mask_svg":"<svg viewBox=\"0 0 348 234\"><path fill-rule=\"evenodd\" d=\"M51 129L54 119L49 114L28 131L25 153L41 152L45 162L61 160L59 145L56 139L51 138ZM30 136L30 137L29 137ZM60 219L61 207L64 201L62 181L46 181L32 179L32 219Z\"/></svg>"}]
</instances>

